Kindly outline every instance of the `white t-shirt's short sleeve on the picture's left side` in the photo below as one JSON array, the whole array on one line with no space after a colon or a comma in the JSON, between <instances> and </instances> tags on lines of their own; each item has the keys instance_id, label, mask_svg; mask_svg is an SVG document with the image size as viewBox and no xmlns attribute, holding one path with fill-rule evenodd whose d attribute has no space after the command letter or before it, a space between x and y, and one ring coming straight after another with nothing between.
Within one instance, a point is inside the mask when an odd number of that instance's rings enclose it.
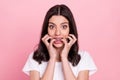
<instances>
[{"instance_id":1,"label":"white t-shirt's short sleeve on the picture's left side","mask_svg":"<svg viewBox=\"0 0 120 80\"><path fill-rule=\"evenodd\" d=\"M33 53L31 53L23 67L23 72L29 75L29 71L36 70L39 72L39 64L33 58Z\"/></svg>"}]
</instances>

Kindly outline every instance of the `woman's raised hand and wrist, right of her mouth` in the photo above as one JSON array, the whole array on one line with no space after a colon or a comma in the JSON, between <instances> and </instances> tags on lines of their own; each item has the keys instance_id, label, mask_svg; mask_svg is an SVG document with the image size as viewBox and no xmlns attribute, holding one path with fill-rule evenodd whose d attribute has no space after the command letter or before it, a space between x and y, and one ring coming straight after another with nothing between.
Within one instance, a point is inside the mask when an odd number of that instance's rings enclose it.
<instances>
[{"instance_id":1,"label":"woman's raised hand and wrist, right of her mouth","mask_svg":"<svg viewBox=\"0 0 120 80\"><path fill-rule=\"evenodd\" d=\"M68 53L69 53L70 48L77 40L73 34L69 34L67 38L69 39L69 42L65 38L62 39L62 41L64 43L64 47L60 53L61 58L66 58L66 59L68 57Z\"/></svg>"}]
</instances>

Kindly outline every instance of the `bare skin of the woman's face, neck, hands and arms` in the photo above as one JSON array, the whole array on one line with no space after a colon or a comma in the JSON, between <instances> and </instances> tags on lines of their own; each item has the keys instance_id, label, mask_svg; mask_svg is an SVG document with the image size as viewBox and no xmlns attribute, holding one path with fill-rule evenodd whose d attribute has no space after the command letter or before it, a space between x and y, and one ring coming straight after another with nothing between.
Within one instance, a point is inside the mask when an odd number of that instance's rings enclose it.
<instances>
[{"instance_id":1,"label":"bare skin of the woman's face, neck, hands and arms","mask_svg":"<svg viewBox=\"0 0 120 80\"><path fill-rule=\"evenodd\" d=\"M61 15L54 15L49 19L48 34L42 38L42 41L48 49L50 60L43 77L40 78L40 73L34 70L30 71L30 80L53 80L57 61L62 62L65 80L89 80L88 70L80 71L75 77L70 68L68 52L77 39L73 34L69 34L69 28L69 21ZM49 39L50 42L48 42ZM68 42L67 39L70 41Z\"/></svg>"}]
</instances>

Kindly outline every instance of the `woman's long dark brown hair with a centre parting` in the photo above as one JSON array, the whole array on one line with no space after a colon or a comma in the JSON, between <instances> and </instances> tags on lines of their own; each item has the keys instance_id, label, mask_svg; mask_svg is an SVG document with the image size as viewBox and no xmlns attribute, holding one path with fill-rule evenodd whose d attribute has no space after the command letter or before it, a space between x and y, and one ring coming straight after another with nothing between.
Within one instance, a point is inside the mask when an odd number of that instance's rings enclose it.
<instances>
[{"instance_id":1,"label":"woman's long dark brown hair with a centre parting","mask_svg":"<svg viewBox=\"0 0 120 80\"><path fill-rule=\"evenodd\" d=\"M48 30L48 22L49 22L49 19L53 15L64 16L69 21L69 27L70 27L69 33L75 35L75 37L77 38L77 41L72 45L72 47L68 53L69 62L73 66L76 66L81 59L81 56L78 54L79 45L78 45L77 28L76 28L75 20L74 20L71 10L66 5L63 5L63 4L55 5L48 10L48 12L45 16L43 25L42 25L40 42L38 44L38 48L34 52L33 59L36 60L39 64L41 64L42 61L48 61L50 58L48 50L41 39L48 33L48 31L47 31Z\"/></svg>"}]
</instances>

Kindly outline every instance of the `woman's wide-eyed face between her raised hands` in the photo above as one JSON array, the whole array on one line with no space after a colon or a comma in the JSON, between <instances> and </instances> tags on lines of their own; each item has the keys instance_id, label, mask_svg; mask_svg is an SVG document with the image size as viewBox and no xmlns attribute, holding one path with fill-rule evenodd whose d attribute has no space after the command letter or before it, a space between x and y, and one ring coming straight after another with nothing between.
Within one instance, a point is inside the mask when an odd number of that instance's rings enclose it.
<instances>
[{"instance_id":1,"label":"woman's wide-eyed face between her raised hands","mask_svg":"<svg viewBox=\"0 0 120 80\"><path fill-rule=\"evenodd\" d=\"M52 16L48 23L48 34L55 39L53 45L56 48L62 47L61 39L66 39L69 34L69 21L61 15Z\"/></svg>"}]
</instances>

